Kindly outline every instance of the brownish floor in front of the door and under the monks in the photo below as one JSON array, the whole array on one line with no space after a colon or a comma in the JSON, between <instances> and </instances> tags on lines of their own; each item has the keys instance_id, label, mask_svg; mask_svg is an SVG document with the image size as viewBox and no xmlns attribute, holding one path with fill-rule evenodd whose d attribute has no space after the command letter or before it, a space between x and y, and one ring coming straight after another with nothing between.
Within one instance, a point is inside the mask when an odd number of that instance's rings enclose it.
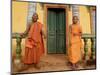
<instances>
[{"instance_id":1,"label":"brownish floor in front of the door and under the monks","mask_svg":"<svg viewBox=\"0 0 100 75\"><path fill-rule=\"evenodd\" d=\"M83 67L84 63L79 65L78 70L80 69L95 69L95 65ZM30 66L29 68L20 71L19 73L30 73L30 72L46 72L46 71L67 71L71 70L70 66L67 64L67 57L64 54L50 54L41 58L41 62L39 64L41 69L36 69L34 66ZM13 70L16 67L13 66ZM17 71L13 71L16 73Z\"/></svg>"}]
</instances>

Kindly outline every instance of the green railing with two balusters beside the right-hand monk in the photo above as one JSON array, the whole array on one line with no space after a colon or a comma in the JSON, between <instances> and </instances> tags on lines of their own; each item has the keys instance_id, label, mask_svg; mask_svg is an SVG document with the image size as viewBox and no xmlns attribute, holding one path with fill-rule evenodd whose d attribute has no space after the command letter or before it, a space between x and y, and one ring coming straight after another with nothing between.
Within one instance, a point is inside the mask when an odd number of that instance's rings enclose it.
<instances>
[{"instance_id":1,"label":"green railing with two balusters beside the right-hand monk","mask_svg":"<svg viewBox=\"0 0 100 75\"><path fill-rule=\"evenodd\" d=\"M96 53L96 36L94 34L83 34L82 39L84 41L84 55L85 55L85 60L87 59L88 56L88 50L89 50L89 43L88 41L91 41L91 59L95 59L95 53Z\"/></svg>"}]
</instances>

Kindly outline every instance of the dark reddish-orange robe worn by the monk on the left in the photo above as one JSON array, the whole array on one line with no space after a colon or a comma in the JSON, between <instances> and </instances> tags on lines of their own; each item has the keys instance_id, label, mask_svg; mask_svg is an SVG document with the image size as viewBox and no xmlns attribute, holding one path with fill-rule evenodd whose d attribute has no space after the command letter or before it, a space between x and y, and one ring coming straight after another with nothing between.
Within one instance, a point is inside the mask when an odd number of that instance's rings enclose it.
<instances>
[{"instance_id":1,"label":"dark reddish-orange robe worn by the monk on the left","mask_svg":"<svg viewBox=\"0 0 100 75\"><path fill-rule=\"evenodd\" d=\"M39 63L41 55L44 53L44 44L42 38L42 24L33 23L25 42L25 64Z\"/></svg>"}]
</instances>

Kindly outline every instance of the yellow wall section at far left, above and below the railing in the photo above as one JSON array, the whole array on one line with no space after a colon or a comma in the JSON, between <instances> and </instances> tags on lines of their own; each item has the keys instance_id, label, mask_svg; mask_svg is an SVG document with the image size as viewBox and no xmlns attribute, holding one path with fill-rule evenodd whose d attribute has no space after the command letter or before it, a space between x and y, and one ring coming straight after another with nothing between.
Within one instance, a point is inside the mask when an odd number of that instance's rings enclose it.
<instances>
[{"instance_id":1,"label":"yellow wall section at far left, above and below the railing","mask_svg":"<svg viewBox=\"0 0 100 75\"><path fill-rule=\"evenodd\" d=\"M12 1L12 33L24 32L27 26L28 2ZM24 39L22 40L22 50L24 50ZM12 53L15 54L16 40L12 39ZM24 53L24 52L22 52Z\"/></svg>"}]
</instances>

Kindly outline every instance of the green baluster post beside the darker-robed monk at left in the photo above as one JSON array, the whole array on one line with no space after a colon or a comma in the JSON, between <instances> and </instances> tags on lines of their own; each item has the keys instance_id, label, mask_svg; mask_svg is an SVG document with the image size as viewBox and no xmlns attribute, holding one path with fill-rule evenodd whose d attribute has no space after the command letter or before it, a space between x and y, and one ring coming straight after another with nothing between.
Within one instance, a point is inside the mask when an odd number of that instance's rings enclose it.
<instances>
[{"instance_id":1,"label":"green baluster post beside the darker-robed monk at left","mask_svg":"<svg viewBox=\"0 0 100 75\"><path fill-rule=\"evenodd\" d=\"M15 63L20 63L21 58L21 36L16 33L16 60Z\"/></svg>"}]
</instances>

